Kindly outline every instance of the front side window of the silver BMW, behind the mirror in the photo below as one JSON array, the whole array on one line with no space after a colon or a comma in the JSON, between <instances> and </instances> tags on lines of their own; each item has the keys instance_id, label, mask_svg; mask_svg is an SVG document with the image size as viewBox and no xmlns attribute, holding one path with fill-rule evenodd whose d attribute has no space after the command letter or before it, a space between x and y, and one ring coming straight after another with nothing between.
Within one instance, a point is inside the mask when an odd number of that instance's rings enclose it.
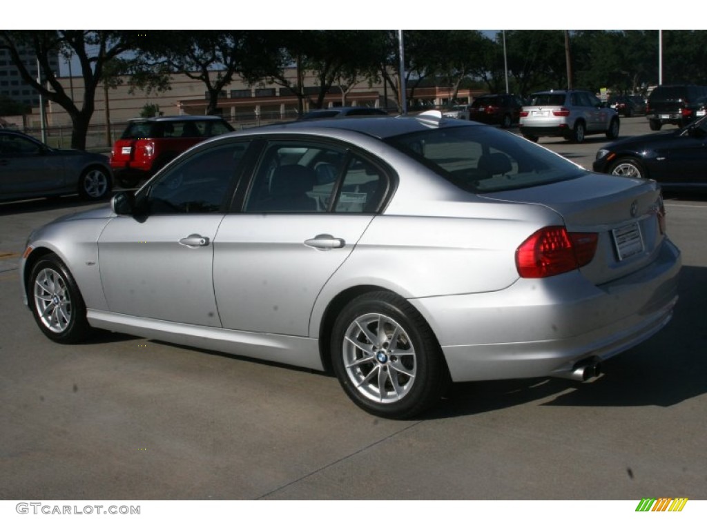
<instances>
[{"instance_id":1,"label":"front side window of the silver BMW, behind the mirror","mask_svg":"<svg viewBox=\"0 0 707 530\"><path fill-rule=\"evenodd\" d=\"M139 210L147 214L220 211L248 144L221 143L169 167L136 198Z\"/></svg>"}]
</instances>

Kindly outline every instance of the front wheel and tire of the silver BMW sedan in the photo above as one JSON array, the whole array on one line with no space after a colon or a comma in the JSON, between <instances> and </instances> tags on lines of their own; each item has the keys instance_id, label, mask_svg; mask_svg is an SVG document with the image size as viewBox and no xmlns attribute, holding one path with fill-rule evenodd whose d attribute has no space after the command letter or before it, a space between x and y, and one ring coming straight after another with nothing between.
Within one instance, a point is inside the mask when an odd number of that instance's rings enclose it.
<instances>
[{"instance_id":1,"label":"front wheel and tire of the silver BMW sedan","mask_svg":"<svg viewBox=\"0 0 707 530\"><path fill-rule=\"evenodd\" d=\"M55 254L47 254L32 267L27 297L37 326L52 341L78 343L90 334L81 292Z\"/></svg>"}]
</instances>

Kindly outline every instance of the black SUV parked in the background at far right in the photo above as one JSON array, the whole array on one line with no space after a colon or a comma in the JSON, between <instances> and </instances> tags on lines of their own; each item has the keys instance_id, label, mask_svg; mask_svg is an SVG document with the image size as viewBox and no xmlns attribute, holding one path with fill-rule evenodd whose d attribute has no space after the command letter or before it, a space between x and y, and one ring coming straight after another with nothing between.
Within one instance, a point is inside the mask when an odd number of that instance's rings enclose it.
<instances>
[{"instance_id":1,"label":"black SUV parked in the background at far right","mask_svg":"<svg viewBox=\"0 0 707 530\"><path fill-rule=\"evenodd\" d=\"M645 117L651 131L660 131L663 124L685 126L696 117L698 100L707 96L707 86L660 85L648 96Z\"/></svg>"}]
</instances>

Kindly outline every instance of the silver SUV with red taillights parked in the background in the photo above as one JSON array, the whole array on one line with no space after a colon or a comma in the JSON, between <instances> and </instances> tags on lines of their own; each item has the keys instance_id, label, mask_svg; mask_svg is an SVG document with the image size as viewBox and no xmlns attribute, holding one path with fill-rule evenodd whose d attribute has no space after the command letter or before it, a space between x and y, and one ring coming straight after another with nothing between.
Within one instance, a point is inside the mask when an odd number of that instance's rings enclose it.
<instances>
[{"instance_id":1,"label":"silver SUV with red taillights parked in the background","mask_svg":"<svg viewBox=\"0 0 707 530\"><path fill-rule=\"evenodd\" d=\"M587 90L547 90L531 96L520 111L520 133L537 141L539 136L563 136L582 143L588 134L619 136L619 114Z\"/></svg>"}]
</instances>

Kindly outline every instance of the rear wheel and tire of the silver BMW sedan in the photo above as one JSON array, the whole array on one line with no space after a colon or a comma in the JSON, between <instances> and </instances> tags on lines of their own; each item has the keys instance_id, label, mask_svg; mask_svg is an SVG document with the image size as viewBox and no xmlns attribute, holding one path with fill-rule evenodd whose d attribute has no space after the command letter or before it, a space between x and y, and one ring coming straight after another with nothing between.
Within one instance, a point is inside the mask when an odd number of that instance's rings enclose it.
<instances>
[{"instance_id":1,"label":"rear wheel and tire of the silver BMW sedan","mask_svg":"<svg viewBox=\"0 0 707 530\"><path fill-rule=\"evenodd\" d=\"M389 343L395 338L395 344ZM402 420L438 403L448 380L425 319L393 293L366 293L334 324L332 366L341 387L368 413Z\"/></svg>"}]
</instances>

